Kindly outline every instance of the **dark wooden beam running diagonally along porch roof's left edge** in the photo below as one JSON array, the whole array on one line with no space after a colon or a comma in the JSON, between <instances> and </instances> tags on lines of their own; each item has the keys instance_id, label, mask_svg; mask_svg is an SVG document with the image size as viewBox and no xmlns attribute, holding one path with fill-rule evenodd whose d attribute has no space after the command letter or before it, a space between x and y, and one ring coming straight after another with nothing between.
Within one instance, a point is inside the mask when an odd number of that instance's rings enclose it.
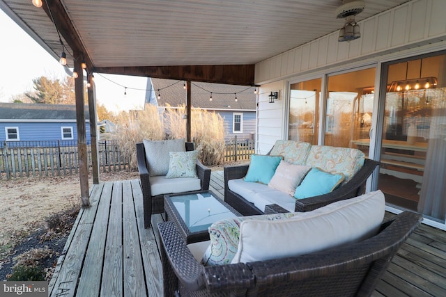
<instances>
[{"instance_id":1,"label":"dark wooden beam running diagonally along porch roof's left edge","mask_svg":"<svg viewBox=\"0 0 446 297\"><path fill-rule=\"evenodd\" d=\"M86 48L82 44L79 35L77 35L77 31L75 30L75 26L72 25L70 17L66 13L65 8L63 8L63 4L60 0L54 1L43 1L45 3L43 5L43 9L45 13L47 13L49 19L53 19L57 31L66 41L66 47L70 47L74 52L80 52L84 54L84 60L89 69L93 68L93 61L86 51Z\"/></svg>"}]
</instances>

